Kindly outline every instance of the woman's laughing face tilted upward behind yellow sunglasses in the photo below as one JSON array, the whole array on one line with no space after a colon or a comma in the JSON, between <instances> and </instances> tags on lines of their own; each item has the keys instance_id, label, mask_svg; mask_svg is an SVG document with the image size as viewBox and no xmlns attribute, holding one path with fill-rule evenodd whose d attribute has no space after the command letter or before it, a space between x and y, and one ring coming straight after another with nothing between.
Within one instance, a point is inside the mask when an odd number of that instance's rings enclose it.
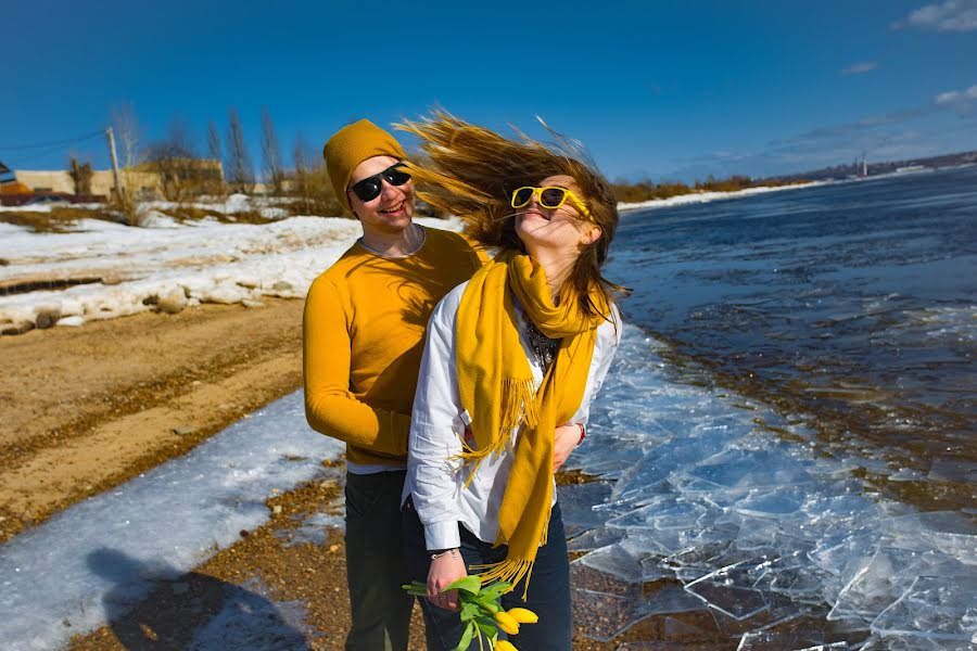
<instances>
[{"instance_id":1,"label":"woman's laughing face tilted upward behind yellow sunglasses","mask_svg":"<svg viewBox=\"0 0 977 651\"><path fill-rule=\"evenodd\" d=\"M566 188L583 199L572 177L546 177L537 183L541 188L545 186ZM516 216L516 234L525 245L526 253L533 257L538 258L543 251L576 257L582 246L600 237L600 227L583 218L569 199L558 208L545 208L540 205L537 194L533 194L529 204L520 208Z\"/></svg>"}]
</instances>

